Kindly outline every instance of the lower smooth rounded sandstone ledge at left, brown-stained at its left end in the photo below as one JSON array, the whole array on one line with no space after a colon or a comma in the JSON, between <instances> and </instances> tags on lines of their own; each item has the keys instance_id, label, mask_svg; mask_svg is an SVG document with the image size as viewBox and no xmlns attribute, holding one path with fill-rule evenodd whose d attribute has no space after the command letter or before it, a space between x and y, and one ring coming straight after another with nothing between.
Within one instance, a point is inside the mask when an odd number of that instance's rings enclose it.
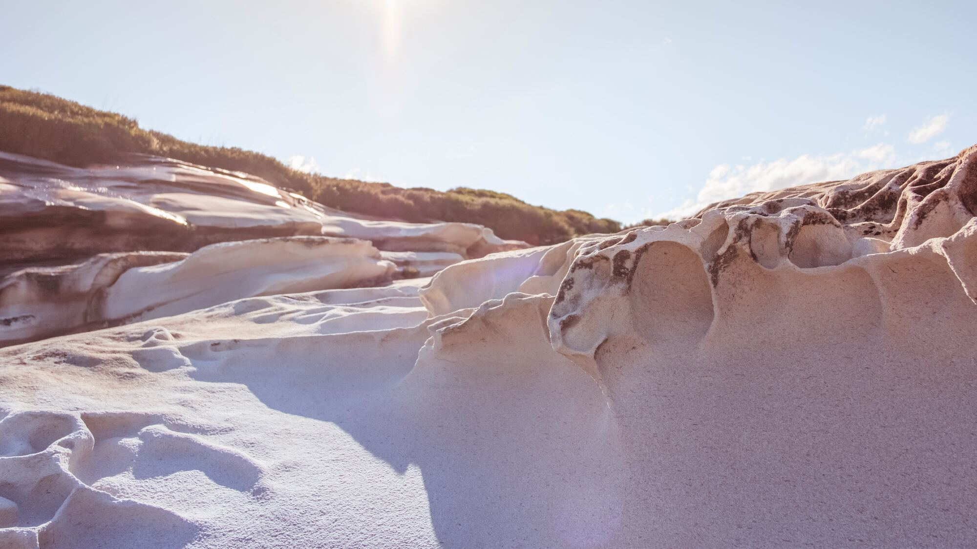
<instances>
[{"instance_id":1,"label":"lower smooth rounded sandstone ledge at left, brown-stained at its left end","mask_svg":"<svg viewBox=\"0 0 977 549\"><path fill-rule=\"evenodd\" d=\"M391 279L395 265L365 240L291 236L221 242L192 254L100 254L35 267L0 282L0 345L179 315L245 297Z\"/></svg>"}]
</instances>

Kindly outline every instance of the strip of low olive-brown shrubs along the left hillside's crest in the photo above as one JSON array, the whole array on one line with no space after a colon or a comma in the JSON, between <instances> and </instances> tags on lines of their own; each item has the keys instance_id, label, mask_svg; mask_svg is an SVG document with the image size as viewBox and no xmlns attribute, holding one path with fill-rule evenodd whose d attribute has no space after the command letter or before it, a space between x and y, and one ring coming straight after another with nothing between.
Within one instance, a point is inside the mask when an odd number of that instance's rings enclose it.
<instances>
[{"instance_id":1,"label":"strip of low olive-brown shrubs along the left hillside's crest","mask_svg":"<svg viewBox=\"0 0 977 549\"><path fill-rule=\"evenodd\" d=\"M247 172L340 210L409 222L477 223L503 238L549 244L588 232L617 232L620 224L579 210L533 206L503 192L458 188L402 189L307 174L259 152L204 147L146 130L132 118L52 95L0 86L0 150L71 166L146 153Z\"/></svg>"}]
</instances>

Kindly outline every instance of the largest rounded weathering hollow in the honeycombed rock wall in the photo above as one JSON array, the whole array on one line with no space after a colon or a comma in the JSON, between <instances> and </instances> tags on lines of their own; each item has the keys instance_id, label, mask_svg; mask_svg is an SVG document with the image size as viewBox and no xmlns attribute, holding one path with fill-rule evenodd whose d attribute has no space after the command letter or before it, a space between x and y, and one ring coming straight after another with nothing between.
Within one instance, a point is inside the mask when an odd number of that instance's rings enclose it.
<instances>
[{"instance_id":1,"label":"largest rounded weathering hollow in the honeycombed rock wall","mask_svg":"<svg viewBox=\"0 0 977 549\"><path fill-rule=\"evenodd\" d=\"M701 339L712 323L712 292L699 255L656 242L635 266L631 322L649 342Z\"/></svg>"}]
</instances>

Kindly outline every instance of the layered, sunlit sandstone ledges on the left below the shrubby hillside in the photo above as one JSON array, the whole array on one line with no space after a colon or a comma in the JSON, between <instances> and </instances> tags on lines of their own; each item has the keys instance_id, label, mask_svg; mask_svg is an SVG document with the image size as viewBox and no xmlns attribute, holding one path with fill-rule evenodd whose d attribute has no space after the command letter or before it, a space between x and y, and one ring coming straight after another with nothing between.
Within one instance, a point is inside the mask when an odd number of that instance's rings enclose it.
<instances>
[{"instance_id":1,"label":"layered, sunlit sandstone ledges on the left below the shrubby hillside","mask_svg":"<svg viewBox=\"0 0 977 549\"><path fill-rule=\"evenodd\" d=\"M0 234L0 346L527 246L472 224L361 219L172 159L81 169L2 152Z\"/></svg>"}]
</instances>

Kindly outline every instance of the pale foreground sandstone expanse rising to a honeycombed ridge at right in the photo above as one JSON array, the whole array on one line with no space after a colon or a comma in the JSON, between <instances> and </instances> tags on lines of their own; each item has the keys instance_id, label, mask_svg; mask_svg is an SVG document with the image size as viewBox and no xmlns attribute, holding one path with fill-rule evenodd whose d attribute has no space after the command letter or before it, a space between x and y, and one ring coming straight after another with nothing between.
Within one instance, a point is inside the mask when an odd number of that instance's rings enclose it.
<instances>
[{"instance_id":1,"label":"pale foreground sandstone expanse rising to a honeycombed ridge at right","mask_svg":"<svg viewBox=\"0 0 977 549\"><path fill-rule=\"evenodd\" d=\"M0 350L0 544L973 546L975 214L969 148Z\"/></svg>"}]
</instances>

